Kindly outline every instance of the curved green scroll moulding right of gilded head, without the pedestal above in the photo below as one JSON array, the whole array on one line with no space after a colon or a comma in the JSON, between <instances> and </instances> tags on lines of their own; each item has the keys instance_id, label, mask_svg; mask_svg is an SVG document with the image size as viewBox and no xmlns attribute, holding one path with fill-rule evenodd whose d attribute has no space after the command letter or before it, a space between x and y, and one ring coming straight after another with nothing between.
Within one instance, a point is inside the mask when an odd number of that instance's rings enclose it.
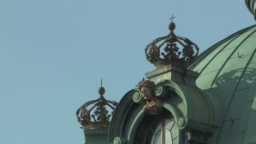
<instances>
[{"instance_id":1,"label":"curved green scroll moulding right of gilded head, without the pedestal above","mask_svg":"<svg viewBox=\"0 0 256 144\"><path fill-rule=\"evenodd\" d=\"M160 82L158 87L159 85L162 89L168 91L165 94L165 97L168 98L163 103L163 107L169 110L173 116L179 115L175 118L179 129L186 131L194 129L205 133L214 131L213 111L210 101L199 88L174 83L173 81Z\"/></svg>"}]
</instances>

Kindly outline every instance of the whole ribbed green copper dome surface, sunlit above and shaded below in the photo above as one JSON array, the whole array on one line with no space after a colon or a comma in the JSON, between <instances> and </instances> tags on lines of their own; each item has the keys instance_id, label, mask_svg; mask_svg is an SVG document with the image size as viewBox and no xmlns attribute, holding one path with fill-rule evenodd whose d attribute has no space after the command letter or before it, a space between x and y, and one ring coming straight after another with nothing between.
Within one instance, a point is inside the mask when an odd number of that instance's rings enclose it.
<instances>
[{"instance_id":1,"label":"whole ribbed green copper dome surface, sunlit above and shaded below","mask_svg":"<svg viewBox=\"0 0 256 144\"><path fill-rule=\"evenodd\" d=\"M217 131L209 143L256 142L253 138L255 129L249 132L256 127L254 122L250 122L250 115L254 116L251 113L255 94L255 51L256 25L242 29L213 45L190 65L190 70L200 73L196 80L199 88L206 91L219 89L227 101L227 108L223 110L223 123L215 125Z\"/></svg>"}]
</instances>

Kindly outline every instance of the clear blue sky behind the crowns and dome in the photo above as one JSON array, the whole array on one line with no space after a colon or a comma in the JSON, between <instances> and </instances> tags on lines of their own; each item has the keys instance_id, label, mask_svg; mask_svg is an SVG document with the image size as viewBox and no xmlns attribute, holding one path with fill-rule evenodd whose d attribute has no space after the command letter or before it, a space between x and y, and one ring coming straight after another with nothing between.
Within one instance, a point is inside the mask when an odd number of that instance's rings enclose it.
<instances>
[{"instance_id":1,"label":"clear blue sky behind the crowns and dome","mask_svg":"<svg viewBox=\"0 0 256 144\"><path fill-rule=\"evenodd\" d=\"M75 111L119 101L155 69L144 48L168 34L200 52L255 24L242 0L0 0L0 143L84 143Z\"/></svg>"}]
</instances>

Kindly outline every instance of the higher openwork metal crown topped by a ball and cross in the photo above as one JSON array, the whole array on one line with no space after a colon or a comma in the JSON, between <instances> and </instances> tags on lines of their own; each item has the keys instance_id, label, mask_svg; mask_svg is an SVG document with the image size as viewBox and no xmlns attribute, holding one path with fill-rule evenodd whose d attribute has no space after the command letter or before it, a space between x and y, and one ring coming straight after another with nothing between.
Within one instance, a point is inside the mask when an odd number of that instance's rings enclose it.
<instances>
[{"instance_id":1,"label":"higher openwork metal crown topped by a ball and cross","mask_svg":"<svg viewBox=\"0 0 256 144\"><path fill-rule=\"evenodd\" d=\"M173 15L170 19L174 19ZM171 32L167 36L157 38L147 45L146 58L156 66L156 69L170 64L186 68L197 57L199 47L188 38L175 35L175 23L171 22L168 29ZM158 45L159 42L161 43ZM161 47L164 47L164 51L160 50Z\"/></svg>"}]
</instances>

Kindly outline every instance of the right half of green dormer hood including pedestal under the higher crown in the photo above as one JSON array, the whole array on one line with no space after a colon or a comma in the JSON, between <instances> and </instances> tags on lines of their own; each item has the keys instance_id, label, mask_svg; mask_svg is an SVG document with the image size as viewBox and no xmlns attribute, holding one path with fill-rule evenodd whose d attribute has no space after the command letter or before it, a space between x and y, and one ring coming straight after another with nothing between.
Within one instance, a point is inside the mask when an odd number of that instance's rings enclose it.
<instances>
[{"instance_id":1,"label":"right half of green dormer hood including pedestal under the higher crown","mask_svg":"<svg viewBox=\"0 0 256 144\"><path fill-rule=\"evenodd\" d=\"M179 125L180 129L194 129L205 133L214 131L212 104L205 92L195 85L197 73L168 65L147 73L146 76L157 83L155 95L165 97L166 103L176 106L176 110L172 111L181 111L184 124Z\"/></svg>"}]
</instances>

